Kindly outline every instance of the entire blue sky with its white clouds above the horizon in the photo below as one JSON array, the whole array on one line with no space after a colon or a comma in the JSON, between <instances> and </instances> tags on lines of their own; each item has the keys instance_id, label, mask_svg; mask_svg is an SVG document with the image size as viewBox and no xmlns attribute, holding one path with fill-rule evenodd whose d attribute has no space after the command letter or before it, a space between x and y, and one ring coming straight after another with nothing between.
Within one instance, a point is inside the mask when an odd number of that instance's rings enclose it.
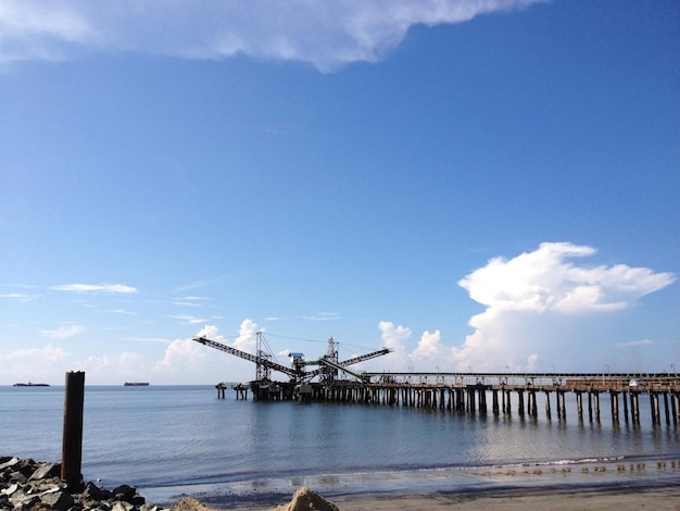
<instances>
[{"instance_id":1,"label":"entire blue sky with its white clouds above the horizon","mask_svg":"<svg viewBox=\"0 0 680 511\"><path fill-rule=\"evenodd\" d=\"M0 0L0 385L676 372L679 197L676 0Z\"/></svg>"}]
</instances>

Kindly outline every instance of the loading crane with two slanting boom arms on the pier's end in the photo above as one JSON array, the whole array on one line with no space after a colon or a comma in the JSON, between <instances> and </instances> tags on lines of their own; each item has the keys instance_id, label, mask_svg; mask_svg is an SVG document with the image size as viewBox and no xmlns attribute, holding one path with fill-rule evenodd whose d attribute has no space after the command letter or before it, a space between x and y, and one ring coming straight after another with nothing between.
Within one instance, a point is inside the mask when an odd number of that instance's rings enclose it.
<instances>
[{"instance_id":1,"label":"loading crane with two slanting boom arms on the pier's end","mask_svg":"<svg viewBox=\"0 0 680 511\"><path fill-rule=\"evenodd\" d=\"M392 350L389 348L382 348L377 351L373 351L370 353L362 354L358 357L353 357L351 359L344 360L342 362L338 361L338 342L336 342L332 337L328 339L328 350L326 354L317 360L305 360L303 353L290 353L292 366L288 367L286 365L279 364L278 362L274 362L272 360L272 354L262 350L262 341L263 334L262 332L257 332L257 354L252 354L247 351L239 350L231 346L224 345L222 342L217 342L216 340L209 339L203 336L196 336L193 340L200 342L204 346L209 346L214 349L218 349L221 351L225 351L235 357L239 357L244 360L250 360L256 364L256 381L266 382L270 381L270 372L278 371L279 373L284 373L290 377L290 381L293 383L303 383L310 382L315 376L319 376L324 382L332 382L339 371L347 373L351 376L354 376L357 379L366 379L365 374L355 373L350 371L347 366L363 362L365 360L370 360L376 357L380 357L387 353L390 353ZM312 371L307 371L307 365L317 365L318 367Z\"/></svg>"}]
</instances>

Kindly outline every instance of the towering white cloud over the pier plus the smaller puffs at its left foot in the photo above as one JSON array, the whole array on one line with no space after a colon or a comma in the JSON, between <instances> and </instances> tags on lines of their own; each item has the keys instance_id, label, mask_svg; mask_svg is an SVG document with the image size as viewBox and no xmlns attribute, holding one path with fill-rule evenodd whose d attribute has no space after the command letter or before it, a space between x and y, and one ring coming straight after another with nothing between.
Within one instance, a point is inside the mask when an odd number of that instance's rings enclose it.
<instances>
[{"instance_id":1,"label":"towering white cloud over the pier plus the smaller puffs at its left foot","mask_svg":"<svg viewBox=\"0 0 680 511\"><path fill-rule=\"evenodd\" d=\"M676 276L626 264L575 262L595 253L588 246L545 242L509 260L491 259L458 283L471 299L486 306L469 320L474 332L455 342L442 339L440 331L426 331L410 350L410 328L380 322L385 344L396 353L385 365L416 372L519 372L559 367L583 349L596 352L589 328L599 319L610 321L607 317L669 286ZM631 349L656 344L644 339L614 346Z\"/></svg>"}]
</instances>

